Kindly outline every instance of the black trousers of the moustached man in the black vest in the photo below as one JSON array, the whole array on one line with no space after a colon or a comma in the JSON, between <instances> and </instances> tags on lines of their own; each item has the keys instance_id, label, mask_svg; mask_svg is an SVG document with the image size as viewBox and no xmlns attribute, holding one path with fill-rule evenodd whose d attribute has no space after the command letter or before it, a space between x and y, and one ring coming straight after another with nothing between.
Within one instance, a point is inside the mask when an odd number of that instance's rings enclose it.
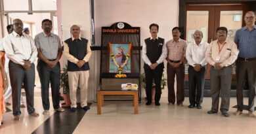
<instances>
[{"instance_id":1,"label":"black trousers of the moustached man in the black vest","mask_svg":"<svg viewBox=\"0 0 256 134\"><path fill-rule=\"evenodd\" d=\"M158 66L152 70L148 65L144 65L144 72L146 76L146 99L152 102L152 82L156 84L155 103L158 103L161 98L161 76L163 75L163 67Z\"/></svg>"}]
</instances>

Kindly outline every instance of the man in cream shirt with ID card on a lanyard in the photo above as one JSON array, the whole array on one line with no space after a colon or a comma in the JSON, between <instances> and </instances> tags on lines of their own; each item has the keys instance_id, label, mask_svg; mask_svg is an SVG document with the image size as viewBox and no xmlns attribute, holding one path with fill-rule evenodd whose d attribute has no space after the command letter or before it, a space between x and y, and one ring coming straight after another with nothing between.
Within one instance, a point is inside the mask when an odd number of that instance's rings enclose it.
<instances>
[{"instance_id":1,"label":"man in cream shirt with ID card on a lanyard","mask_svg":"<svg viewBox=\"0 0 256 134\"><path fill-rule=\"evenodd\" d=\"M232 81L232 63L238 57L238 49L234 41L226 39L228 29L217 28L217 40L209 44L205 59L211 65L211 95L212 105L208 114L214 114L219 109L221 94L221 114L228 117L229 99Z\"/></svg>"}]
</instances>

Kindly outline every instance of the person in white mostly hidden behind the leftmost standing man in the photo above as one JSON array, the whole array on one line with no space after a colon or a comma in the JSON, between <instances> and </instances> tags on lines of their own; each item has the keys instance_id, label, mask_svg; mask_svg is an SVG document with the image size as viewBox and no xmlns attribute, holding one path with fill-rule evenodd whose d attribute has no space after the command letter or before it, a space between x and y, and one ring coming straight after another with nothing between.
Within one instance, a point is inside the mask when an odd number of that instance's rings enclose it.
<instances>
[{"instance_id":1,"label":"person in white mostly hidden behind the leftmost standing man","mask_svg":"<svg viewBox=\"0 0 256 134\"><path fill-rule=\"evenodd\" d=\"M7 25L7 31L8 31L8 34L11 34L13 31L13 25ZM0 51L5 52L5 49L3 48L3 44L0 44ZM8 87L7 87L7 90L5 90L5 104L7 106L10 106L11 103L9 103L9 100L12 95L12 88L11 88L11 84L10 84L9 59L7 58L7 54L5 54L5 73L7 75L7 80L8 80ZM26 108L26 106L24 105L22 96L20 97L20 107Z\"/></svg>"}]
</instances>

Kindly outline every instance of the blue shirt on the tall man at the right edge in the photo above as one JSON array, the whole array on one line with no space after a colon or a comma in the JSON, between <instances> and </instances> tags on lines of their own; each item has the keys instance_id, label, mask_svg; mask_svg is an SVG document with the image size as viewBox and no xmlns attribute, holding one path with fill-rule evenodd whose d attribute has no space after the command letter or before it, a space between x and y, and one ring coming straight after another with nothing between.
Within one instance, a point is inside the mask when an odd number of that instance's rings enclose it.
<instances>
[{"instance_id":1,"label":"blue shirt on the tall man at the right edge","mask_svg":"<svg viewBox=\"0 0 256 134\"><path fill-rule=\"evenodd\" d=\"M238 44L240 58L256 58L256 25L249 31L242 27L236 31L234 42Z\"/></svg>"}]
</instances>

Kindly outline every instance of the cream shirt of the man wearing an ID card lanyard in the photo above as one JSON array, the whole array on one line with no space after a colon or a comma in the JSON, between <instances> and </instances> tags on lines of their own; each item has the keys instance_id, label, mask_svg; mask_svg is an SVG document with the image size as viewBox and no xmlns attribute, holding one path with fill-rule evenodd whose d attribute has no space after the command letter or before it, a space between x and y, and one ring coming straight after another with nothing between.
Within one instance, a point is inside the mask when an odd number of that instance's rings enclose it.
<instances>
[{"instance_id":1,"label":"cream shirt of the man wearing an ID card lanyard","mask_svg":"<svg viewBox=\"0 0 256 134\"><path fill-rule=\"evenodd\" d=\"M221 63L222 67L227 67L236 61L238 53L239 50L234 41L226 39L223 44L212 41L205 52L205 59L210 65Z\"/></svg>"}]
</instances>

